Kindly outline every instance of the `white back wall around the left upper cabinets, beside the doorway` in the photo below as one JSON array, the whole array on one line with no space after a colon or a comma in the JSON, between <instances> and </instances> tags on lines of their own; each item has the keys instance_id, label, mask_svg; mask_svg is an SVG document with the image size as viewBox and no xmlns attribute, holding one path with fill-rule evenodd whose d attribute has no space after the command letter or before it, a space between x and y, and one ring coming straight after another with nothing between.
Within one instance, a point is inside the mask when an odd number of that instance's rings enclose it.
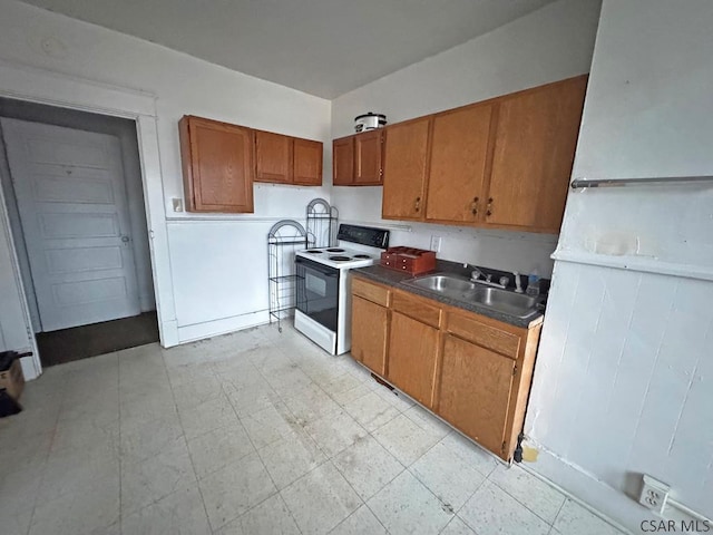
<instances>
[{"instance_id":1,"label":"white back wall around the left upper cabinets, beside the doorway","mask_svg":"<svg viewBox=\"0 0 713 535\"><path fill-rule=\"evenodd\" d=\"M175 317L179 337L201 338L266 321L267 281L258 265L267 254L265 227L282 217L303 220L306 204L329 197L330 187L255 186L254 215L173 213L172 198L183 198L177 123L193 114L325 142L324 182L330 184L330 103L12 0L0 0L0 59L156 96L176 296L175 311L163 312L168 320ZM256 224L256 217L267 224ZM9 279L2 282L11 285ZM7 315L0 311L3 325Z\"/></svg>"}]
</instances>

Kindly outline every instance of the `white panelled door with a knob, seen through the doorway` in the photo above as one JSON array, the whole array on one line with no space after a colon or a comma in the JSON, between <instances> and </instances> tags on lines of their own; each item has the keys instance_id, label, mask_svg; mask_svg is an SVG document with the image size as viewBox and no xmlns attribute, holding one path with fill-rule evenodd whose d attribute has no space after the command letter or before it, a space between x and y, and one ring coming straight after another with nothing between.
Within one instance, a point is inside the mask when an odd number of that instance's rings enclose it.
<instances>
[{"instance_id":1,"label":"white panelled door with a knob, seen through the doorway","mask_svg":"<svg viewBox=\"0 0 713 535\"><path fill-rule=\"evenodd\" d=\"M118 138L0 124L42 331L139 314Z\"/></svg>"}]
</instances>

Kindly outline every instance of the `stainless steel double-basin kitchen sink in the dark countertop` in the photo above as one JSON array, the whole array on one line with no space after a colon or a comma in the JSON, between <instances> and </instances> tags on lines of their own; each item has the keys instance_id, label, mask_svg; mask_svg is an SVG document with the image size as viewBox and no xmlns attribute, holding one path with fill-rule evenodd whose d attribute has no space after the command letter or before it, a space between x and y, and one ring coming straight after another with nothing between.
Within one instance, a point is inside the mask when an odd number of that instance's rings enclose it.
<instances>
[{"instance_id":1,"label":"stainless steel double-basin kitchen sink in the dark countertop","mask_svg":"<svg viewBox=\"0 0 713 535\"><path fill-rule=\"evenodd\" d=\"M426 275L403 281L403 284L463 303L480 304L516 318L530 315L538 301L537 296L486 286L458 275Z\"/></svg>"}]
</instances>

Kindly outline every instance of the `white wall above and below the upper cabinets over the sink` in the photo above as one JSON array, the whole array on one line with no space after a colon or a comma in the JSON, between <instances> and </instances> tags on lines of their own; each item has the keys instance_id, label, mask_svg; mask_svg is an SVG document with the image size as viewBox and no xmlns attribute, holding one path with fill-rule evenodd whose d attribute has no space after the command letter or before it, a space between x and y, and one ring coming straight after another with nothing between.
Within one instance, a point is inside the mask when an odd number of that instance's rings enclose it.
<instances>
[{"instance_id":1,"label":"white wall above and below the upper cabinets over the sink","mask_svg":"<svg viewBox=\"0 0 713 535\"><path fill-rule=\"evenodd\" d=\"M560 0L485 36L385 76L332 103L332 136L353 133L355 116L377 111L389 123L455 108L589 71L600 0ZM335 187L345 220L381 222L381 187ZM389 222L384 222L389 224ZM557 237L470 227L408 224L393 244L430 249L439 257L549 275Z\"/></svg>"}]
</instances>

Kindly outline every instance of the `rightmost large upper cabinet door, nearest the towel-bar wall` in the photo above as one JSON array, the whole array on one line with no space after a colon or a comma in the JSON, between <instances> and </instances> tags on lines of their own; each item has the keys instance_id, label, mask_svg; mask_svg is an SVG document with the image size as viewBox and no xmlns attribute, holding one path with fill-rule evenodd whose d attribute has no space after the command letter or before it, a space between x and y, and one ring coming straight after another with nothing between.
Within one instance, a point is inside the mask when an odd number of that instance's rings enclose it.
<instances>
[{"instance_id":1,"label":"rightmost large upper cabinet door, nearest the towel-bar wall","mask_svg":"<svg viewBox=\"0 0 713 535\"><path fill-rule=\"evenodd\" d=\"M582 76L500 104L487 223L559 232L586 85Z\"/></svg>"}]
</instances>

